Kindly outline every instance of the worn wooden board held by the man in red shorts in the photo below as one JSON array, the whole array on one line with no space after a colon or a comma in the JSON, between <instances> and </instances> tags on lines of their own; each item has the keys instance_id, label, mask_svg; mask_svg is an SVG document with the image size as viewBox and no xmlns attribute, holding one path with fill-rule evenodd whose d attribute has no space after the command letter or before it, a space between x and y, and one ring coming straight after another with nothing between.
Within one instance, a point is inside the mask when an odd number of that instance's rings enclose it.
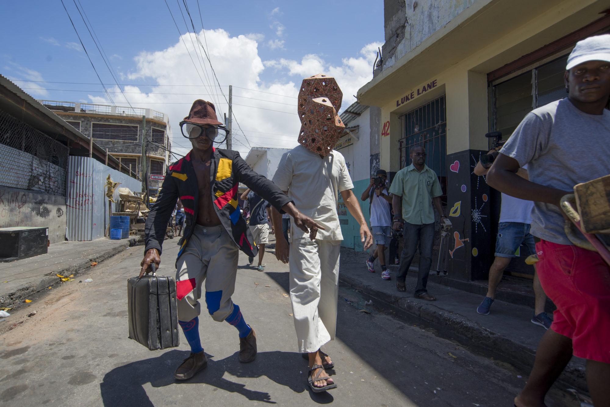
<instances>
[{"instance_id":1,"label":"worn wooden board held by the man in red shorts","mask_svg":"<svg viewBox=\"0 0 610 407\"><path fill-rule=\"evenodd\" d=\"M610 175L576 185L574 194L583 230L610 232Z\"/></svg>"}]
</instances>

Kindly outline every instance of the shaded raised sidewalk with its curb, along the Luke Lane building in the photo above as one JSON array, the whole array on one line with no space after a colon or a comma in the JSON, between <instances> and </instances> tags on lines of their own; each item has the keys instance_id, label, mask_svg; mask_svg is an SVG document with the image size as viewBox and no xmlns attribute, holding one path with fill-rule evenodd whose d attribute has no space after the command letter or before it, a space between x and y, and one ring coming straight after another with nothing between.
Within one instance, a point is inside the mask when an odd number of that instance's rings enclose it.
<instances>
[{"instance_id":1,"label":"shaded raised sidewalk with its curb, along the Luke Lane building","mask_svg":"<svg viewBox=\"0 0 610 407\"><path fill-rule=\"evenodd\" d=\"M414 267L407 275L407 291L399 292L396 289L397 267L389 267L392 280L382 280L379 262L376 261L376 272L370 273L365 264L367 258L367 252L354 252L342 247L339 280L370 296L373 304L380 308L399 308L410 316L425 320L445 337L454 338L529 372L538 342L545 333L544 328L530 322L533 308L497 299L489 315L479 315L476 307L484 294L452 288L447 281L436 283L434 280L439 281L436 271L430 275L428 291L437 300L415 299L417 270ZM442 277L441 280L443 278L447 279ZM573 358L559 380L570 387L586 390L584 373L584 360Z\"/></svg>"}]
</instances>

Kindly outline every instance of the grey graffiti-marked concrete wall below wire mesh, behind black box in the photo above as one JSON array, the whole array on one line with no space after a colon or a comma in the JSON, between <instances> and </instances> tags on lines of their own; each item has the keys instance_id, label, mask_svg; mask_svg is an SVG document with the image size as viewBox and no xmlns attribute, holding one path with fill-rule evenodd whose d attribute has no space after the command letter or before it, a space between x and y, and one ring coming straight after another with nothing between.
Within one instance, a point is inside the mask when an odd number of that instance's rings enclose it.
<instances>
[{"instance_id":1,"label":"grey graffiti-marked concrete wall below wire mesh, behind black box","mask_svg":"<svg viewBox=\"0 0 610 407\"><path fill-rule=\"evenodd\" d=\"M0 227L48 227L49 241L66 237L65 197L0 187Z\"/></svg>"}]
</instances>

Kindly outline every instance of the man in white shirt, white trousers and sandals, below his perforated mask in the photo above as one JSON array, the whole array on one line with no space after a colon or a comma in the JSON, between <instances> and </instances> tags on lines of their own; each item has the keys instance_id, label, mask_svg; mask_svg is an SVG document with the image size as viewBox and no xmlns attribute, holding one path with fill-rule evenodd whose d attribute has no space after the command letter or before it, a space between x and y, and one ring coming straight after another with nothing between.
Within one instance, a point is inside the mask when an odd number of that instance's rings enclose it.
<instances>
[{"instance_id":1,"label":"man in white shirt, white trousers and sandals, below his perforated mask","mask_svg":"<svg viewBox=\"0 0 610 407\"><path fill-rule=\"evenodd\" d=\"M284 263L290 258L290 300L299 351L309 353L310 368L322 365L328 369L331 359L318 351L321 345L335 339L339 251L343 240L337 214L339 194L361 225L360 235L365 249L371 246L372 235L351 190L354 186L345 158L339 152L332 150L322 156L304 146L297 146L282 156L273 182L282 191L287 191L303 214L325 228L318 229L312 241L305 232L292 227L290 248L284 236L276 233L276 256ZM272 213L273 223L281 224L279 212L272 209ZM315 373L312 372L312 376ZM326 383L332 384L332 379ZM315 381L314 385L317 384L325 383Z\"/></svg>"}]
</instances>

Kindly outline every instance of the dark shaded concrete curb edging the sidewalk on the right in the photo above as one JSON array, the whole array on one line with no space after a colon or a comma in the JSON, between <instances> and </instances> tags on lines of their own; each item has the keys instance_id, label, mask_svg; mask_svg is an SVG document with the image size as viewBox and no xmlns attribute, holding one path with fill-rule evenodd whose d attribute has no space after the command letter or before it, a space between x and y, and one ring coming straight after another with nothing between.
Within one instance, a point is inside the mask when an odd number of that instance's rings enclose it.
<instances>
[{"instance_id":1,"label":"dark shaded concrete curb edging the sidewalk on the right","mask_svg":"<svg viewBox=\"0 0 610 407\"><path fill-rule=\"evenodd\" d=\"M510 363L524 372L529 372L534 365L534 349L484 328L467 317L443 310L434 303L423 303L412 297L399 297L378 291L346 273L339 274L339 280L375 299L381 308L398 308L409 316L425 321L426 325L431 325L443 337L458 339L478 353ZM568 364L559 381L570 388L588 391L584 369L573 361Z\"/></svg>"}]
</instances>

